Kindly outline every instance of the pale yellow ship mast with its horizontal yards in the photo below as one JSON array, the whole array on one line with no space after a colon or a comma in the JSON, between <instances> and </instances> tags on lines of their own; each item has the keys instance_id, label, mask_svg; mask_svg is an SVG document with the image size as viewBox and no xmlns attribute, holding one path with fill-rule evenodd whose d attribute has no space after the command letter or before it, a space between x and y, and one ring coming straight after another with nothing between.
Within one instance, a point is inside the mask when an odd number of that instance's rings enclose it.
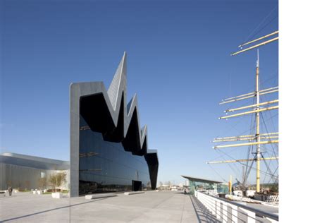
<instances>
[{"instance_id":1,"label":"pale yellow ship mast with its horizontal yards","mask_svg":"<svg viewBox=\"0 0 334 223\"><path fill-rule=\"evenodd\" d=\"M273 35L278 35L278 31L272 32L271 34L265 35L263 37L259 37L256 40L252 40L249 42L246 42L244 44L241 44L239 47L242 48L243 46L247 44L251 44L254 42L257 42L259 40L266 39L267 37L271 37ZM231 54L231 56L240 54L242 52L247 52L250 49L255 49L257 47L260 47L264 44L267 44L269 42L274 42L278 40L278 37L273 37L271 40L266 40L264 42L261 42L259 44L256 44L252 47L249 47L247 49L242 49L239 52L235 52ZM255 91L250 92L244 95L239 95L236 97L230 97L228 99L223 100L223 102L219 104L226 104L230 102L236 102L240 100L245 100L251 97L256 97L256 104L251 104L245 107L239 107L235 109L228 109L225 110L227 113L228 111L237 111L237 110L242 110L242 109L252 109L250 111L245 111L241 112L238 114L233 114L233 115L228 115L228 116L221 116L218 119L228 119L228 118L233 118L236 116L242 116L245 114L254 114L256 115L256 133L255 135L239 135L239 136L231 136L231 137L224 137L224 138L215 138L212 142L217 143L217 142L230 142L230 141L239 141L239 140L247 140L249 141L248 143L237 143L237 144L228 144L228 145L216 145L213 148L214 149L221 149L225 147L239 147L239 146L245 146L245 145L256 145L256 152L255 152L255 157L254 159L235 159L235 160L225 160L225 161L211 161L211 162L206 162L207 164L218 164L218 163L230 163L230 162L249 162L249 161L256 161L256 192L260 192L260 162L266 160L271 160L271 159L278 159L278 157L264 157L261 154L261 145L263 144L270 144L270 143L278 143L278 133L260 133L260 113L262 111L269 111L272 109L278 109L278 105L272 106L272 107L263 107L263 106L268 106L269 104L277 104L278 100L271 100L268 102L260 102L260 95L265 95L273 92L278 92L278 86L273 87L273 88L267 88L264 90L259 89L259 75L260 75L260 64L259 64L259 49L257 49L257 60L256 60L256 82L255 82ZM261 140L265 139L265 140ZM253 142L252 142L253 141ZM249 169L250 170L250 169ZM244 181L246 181L247 176L245 176Z\"/></svg>"}]
</instances>

